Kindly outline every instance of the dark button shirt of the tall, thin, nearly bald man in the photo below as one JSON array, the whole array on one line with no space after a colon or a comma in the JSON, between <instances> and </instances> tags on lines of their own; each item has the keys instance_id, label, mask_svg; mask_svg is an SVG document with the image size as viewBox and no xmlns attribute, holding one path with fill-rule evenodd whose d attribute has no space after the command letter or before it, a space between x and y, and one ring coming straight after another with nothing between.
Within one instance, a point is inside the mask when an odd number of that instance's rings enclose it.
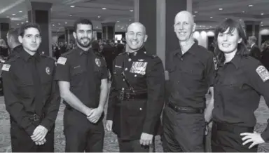
<instances>
[{"instance_id":1,"label":"dark button shirt of the tall, thin, nearly bald man","mask_svg":"<svg viewBox=\"0 0 269 153\"><path fill-rule=\"evenodd\" d=\"M173 51L167 63L170 102L181 107L204 109L205 94L213 84L213 54L195 43L184 55L180 48Z\"/></svg>"}]
</instances>

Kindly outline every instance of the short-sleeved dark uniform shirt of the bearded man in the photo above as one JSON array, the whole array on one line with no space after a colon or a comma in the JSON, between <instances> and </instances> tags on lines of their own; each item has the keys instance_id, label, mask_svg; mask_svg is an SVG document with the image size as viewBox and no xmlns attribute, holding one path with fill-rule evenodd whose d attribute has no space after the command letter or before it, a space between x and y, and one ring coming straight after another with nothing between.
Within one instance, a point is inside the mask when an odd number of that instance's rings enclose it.
<instances>
[{"instance_id":1,"label":"short-sleeved dark uniform shirt of the bearded man","mask_svg":"<svg viewBox=\"0 0 269 153\"><path fill-rule=\"evenodd\" d=\"M98 107L101 80L107 78L104 58L91 49L75 48L57 60L55 80L68 81L70 91L87 107Z\"/></svg>"}]
</instances>

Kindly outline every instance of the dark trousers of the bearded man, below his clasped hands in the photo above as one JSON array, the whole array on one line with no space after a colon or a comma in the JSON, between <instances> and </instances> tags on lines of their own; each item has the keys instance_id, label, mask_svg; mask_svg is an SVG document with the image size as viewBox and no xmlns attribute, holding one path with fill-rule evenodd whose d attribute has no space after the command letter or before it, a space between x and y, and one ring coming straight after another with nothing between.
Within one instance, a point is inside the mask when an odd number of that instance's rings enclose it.
<instances>
[{"instance_id":1,"label":"dark trousers of the bearded man, below his clasped hands","mask_svg":"<svg viewBox=\"0 0 269 153\"><path fill-rule=\"evenodd\" d=\"M103 117L104 114L96 124L91 124L84 114L65 109L65 152L103 152Z\"/></svg>"}]
</instances>

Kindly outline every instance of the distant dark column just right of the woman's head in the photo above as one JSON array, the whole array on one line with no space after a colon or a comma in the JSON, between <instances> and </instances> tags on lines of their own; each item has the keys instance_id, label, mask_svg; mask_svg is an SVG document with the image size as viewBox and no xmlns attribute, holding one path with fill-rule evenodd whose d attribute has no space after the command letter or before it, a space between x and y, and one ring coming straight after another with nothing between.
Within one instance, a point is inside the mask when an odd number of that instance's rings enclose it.
<instances>
[{"instance_id":1,"label":"distant dark column just right of the woman's head","mask_svg":"<svg viewBox=\"0 0 269 153\"><path fill-rule=\"evenodd\" d=\"M249 21L249 20L244 21L244 29L247 34L247 38L249 36L256 36L257 44L260 41L260 38L259 38L260 24L261 24L261 21Z\"/></svg>"}]
</instances>

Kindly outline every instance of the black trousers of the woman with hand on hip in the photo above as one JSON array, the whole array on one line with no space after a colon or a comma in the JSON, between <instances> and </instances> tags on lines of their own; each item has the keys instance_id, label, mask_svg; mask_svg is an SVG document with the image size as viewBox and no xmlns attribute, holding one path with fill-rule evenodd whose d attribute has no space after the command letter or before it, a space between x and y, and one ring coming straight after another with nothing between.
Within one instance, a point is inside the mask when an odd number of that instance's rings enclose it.
<instances>
[{"instance_id":1,"label":"black trousers of the woman with hand on hip","mask_svg":"<svg viewBox=\"0 0 269 153\"><path fill-rule=\"evenodd\" d=\"M242 145L240 133L253 133L254 128L235 126L228 124L213 123L211 147L212 152L257 152L258 145L249 149L247 145Z\"/></svg>"}]
</instances>

